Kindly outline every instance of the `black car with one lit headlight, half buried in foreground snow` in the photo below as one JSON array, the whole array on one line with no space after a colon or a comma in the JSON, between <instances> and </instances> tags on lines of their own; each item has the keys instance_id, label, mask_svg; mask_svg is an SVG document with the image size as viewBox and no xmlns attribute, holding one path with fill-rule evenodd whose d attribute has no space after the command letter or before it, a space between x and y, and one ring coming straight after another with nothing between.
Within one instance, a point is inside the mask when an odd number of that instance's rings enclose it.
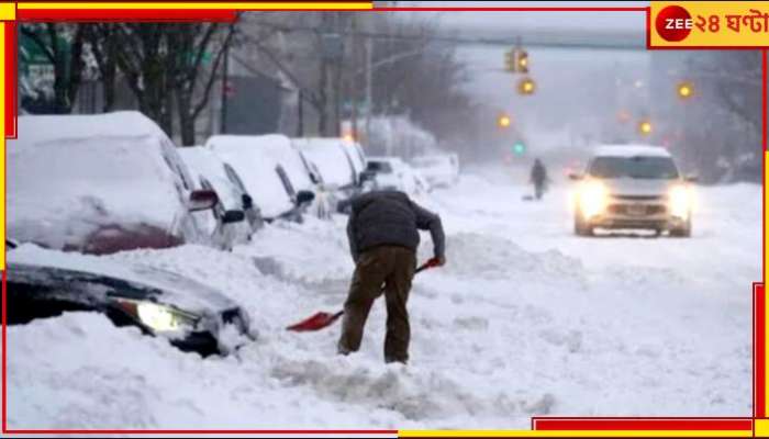
<instances>
[{"instance_id":1,"label":"black car with one lit headlight, half buried in foreground snow","mask_svg":"<svg viewBox=\"0 0 769 439\"><path fill-rule=\"evenodd\" d=\"M179 274L103 257L8 244L8 324L65 312L97 312L183 351L225 354L248 339L248 314L210 286Z\"/></svg>"}]
</instances>

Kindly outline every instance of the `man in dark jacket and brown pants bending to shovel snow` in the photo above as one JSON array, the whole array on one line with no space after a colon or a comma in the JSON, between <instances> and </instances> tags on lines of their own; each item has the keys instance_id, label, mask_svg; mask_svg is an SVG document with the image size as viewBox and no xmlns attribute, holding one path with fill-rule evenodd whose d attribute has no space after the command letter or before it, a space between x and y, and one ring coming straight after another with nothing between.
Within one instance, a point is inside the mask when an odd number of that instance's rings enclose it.
<instances>
[{"instance_id":1,"label":"man in dark jacket and brown pants bending to shovel snow","mask_svg":"<svg viewBox=\"0 0 769 439\"><path fill-rule=\"evenodd\" d=\"M338 352L347 354L360 348L368 313L383 292L384 361L405 363L411 338L406 301L416 269L419 230L430 230L433 238L434 258L430 266L443 266L446 258L441 217L397 191L369 192L349 203L347 237L356 267L344 306Z\"/></svg>"}]
</instances>

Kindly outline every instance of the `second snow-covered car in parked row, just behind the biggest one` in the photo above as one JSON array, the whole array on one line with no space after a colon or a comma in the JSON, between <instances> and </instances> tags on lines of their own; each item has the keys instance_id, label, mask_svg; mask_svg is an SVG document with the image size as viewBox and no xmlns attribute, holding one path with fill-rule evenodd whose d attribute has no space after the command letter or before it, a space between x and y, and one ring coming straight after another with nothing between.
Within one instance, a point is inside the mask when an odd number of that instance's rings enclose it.
<instances>
[{"instance_id":1,"label":"second snow-covered car in parked row, just behind the biggest one","mask_svg":"<svg viewBox=\"0 0 769 439\"><path fill-rule=\"evenodd\" d=\"M196 189L213 190L219 196L212 214L200 213L204 215L201 221L211 240L223 250L232 250L235 244L250 240L263 224L261 214L237 172L212 150L201 146L179 148L178 151L193 175Z\"/></svg>"}]
</instances>

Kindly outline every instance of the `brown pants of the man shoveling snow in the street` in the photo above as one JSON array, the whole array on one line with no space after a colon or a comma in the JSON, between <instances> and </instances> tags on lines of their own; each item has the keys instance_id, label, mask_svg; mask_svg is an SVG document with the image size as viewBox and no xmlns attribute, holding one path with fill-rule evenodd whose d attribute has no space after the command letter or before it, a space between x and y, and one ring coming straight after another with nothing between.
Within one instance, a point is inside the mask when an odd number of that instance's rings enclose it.
<instances>
[{"instance_id":1,"label":"brown pants of the man shoveling snow in the street","mask_svg":"<svg viewBox=\"0 0 769 439\"><path fill-rule=\"evenodd\" d=\"M339 353L346 354L360 348L368 312L374 301L382 294L383 284L387 301L384 361L405 363L409 360L411 329L405 303L415 268L415 252L404 247L381 246L360 255L345 302Z\"/></svg>"}]
</instances>

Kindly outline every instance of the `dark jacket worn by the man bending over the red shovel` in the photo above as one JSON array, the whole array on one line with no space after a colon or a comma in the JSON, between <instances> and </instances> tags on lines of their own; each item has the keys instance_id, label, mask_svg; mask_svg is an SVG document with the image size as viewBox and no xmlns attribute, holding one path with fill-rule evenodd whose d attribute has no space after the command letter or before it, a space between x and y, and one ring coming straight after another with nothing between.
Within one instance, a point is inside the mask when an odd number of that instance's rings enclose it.
<instances>
[{"instance_id":1,"label":"dark jacket worn by the man bending over the red shovel","mask_svg":"<svg viewBox=\"0 0 769 439\"><path fill-rule=\"evenodd\" d=\"M353 259L374 247L393 245L416 250L417 229L430 230L435 257L444 256L441 217L417 205L403 192L375 191L350 200L347 238Z\"/></svg>"}]
</instances>

